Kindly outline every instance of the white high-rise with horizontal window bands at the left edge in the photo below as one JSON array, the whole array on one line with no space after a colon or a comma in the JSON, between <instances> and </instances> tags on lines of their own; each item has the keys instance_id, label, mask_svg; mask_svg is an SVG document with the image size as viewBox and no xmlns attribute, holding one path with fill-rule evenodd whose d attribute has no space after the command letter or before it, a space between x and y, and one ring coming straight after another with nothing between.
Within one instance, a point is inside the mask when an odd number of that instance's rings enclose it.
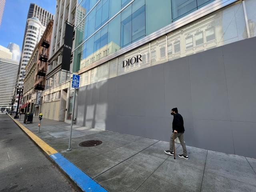
<instances>
[{"instance_id":1,"label":"white high-rise with horizontal window bands at the left edge","mask_svg":"<svg viewBox=\"0 0 256 192\"><path fill-rule=\"evenodd\" d=\"M0 58L0 107L7 108L12 102L16 80L18 75L19 62Z\"/></svg>"}]
</instances>

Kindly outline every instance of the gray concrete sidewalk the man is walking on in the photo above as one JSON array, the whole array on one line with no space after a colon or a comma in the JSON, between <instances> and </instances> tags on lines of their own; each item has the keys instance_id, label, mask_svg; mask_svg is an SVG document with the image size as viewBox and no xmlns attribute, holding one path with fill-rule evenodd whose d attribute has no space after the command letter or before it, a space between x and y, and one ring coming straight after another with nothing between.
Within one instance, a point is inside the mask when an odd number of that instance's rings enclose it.
<instances>
[{"instance_id":1,"label":"gray concrete sidewalk the man is walking on","mask_svg":"<svg viewBox=\"0 0 256 192\"><path fill-rule=\"evenodd\" d=\"M21 122L21 121L20 121ZM23 124L109 192L256 192L256 159L187 146L189 160L168 156L169 142L90 129L43 118ZM94 147L80 147L100 140Z\"/></svg>"}]
</instances>

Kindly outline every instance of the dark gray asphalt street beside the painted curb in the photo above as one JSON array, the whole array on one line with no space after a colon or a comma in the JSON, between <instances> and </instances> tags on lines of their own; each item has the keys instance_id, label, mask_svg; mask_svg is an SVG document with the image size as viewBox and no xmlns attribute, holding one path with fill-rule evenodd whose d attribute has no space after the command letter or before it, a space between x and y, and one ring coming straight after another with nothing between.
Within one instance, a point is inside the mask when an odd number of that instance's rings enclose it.
<instances>
[{"instance_id":1,"label":"dark gray asphalt street beside the painted curb","mask_svg":"<svg viewBox=\"0 0 256 192\"><path fill-rule=\"evenodd\" d=\"M0 192L76 192L6 114L0 114Z\"/></svg>"}]
</instances>

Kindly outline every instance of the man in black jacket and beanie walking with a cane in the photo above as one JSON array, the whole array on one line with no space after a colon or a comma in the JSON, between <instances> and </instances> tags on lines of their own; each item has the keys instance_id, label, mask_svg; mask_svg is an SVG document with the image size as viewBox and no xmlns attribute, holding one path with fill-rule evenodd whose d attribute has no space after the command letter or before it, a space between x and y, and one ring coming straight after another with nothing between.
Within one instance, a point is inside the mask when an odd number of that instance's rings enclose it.
<instances>
[{"instance_id":1,"label":"man in black jacket and beanie walking with a cane","mask_svg":"<svg viewBox=\"0 0 256 192\"><path fill-rule=\"evenodd\" d=\"M180 114L178 114L178 109L177 108L173 108L171 110L171 115L173 115L173 121L172 121L172 132L174 134L174 140L178 137L180 140L180 144L182 146L183 149L183 154L178 155L180 158L184 158L184 159L188 159L188 153L186 150L186 144L184 142L184 122L183 122L183 118ZM170 150L165 150L164 152L168 155L174 155L173 152L173 134L171 135L170 138Z\"/></svg>"}]
</instances>

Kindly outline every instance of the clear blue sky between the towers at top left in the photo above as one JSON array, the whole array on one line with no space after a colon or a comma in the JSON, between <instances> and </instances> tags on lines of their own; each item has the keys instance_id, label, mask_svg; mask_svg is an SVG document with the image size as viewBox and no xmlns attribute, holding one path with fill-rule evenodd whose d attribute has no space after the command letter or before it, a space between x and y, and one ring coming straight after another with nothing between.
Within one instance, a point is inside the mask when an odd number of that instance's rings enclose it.
<instances>
[{"instance_id":1,"label":"clear blue sky between the towers at top left","mask_svg":"<svg viewBox=\"0 0 256 192\"><path fill-rule=\"evenodd\" d=\"M0 45L7 47L9 42L22 49L23 35L30 3L55 14L56 0L6 0L2 24L0 26Z\"/></svg>"}]
</instances>

